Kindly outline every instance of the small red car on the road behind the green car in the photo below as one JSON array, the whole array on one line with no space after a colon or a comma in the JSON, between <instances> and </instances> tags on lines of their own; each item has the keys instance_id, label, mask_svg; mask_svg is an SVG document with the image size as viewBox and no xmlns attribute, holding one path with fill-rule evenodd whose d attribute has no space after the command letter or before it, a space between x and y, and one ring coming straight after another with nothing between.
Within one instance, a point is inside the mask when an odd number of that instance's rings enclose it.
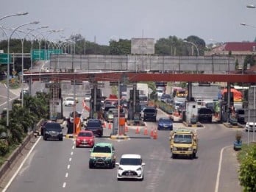
<instances>
[{"instance_id":1,"label":"small red car on the road behind the green car","mask_svg":"<svg viewBox=\"0 0 256 192\"><path fill-rule=\"evenodd\" d=\"M92 131L82 130L78 133L76 139L76 147L79 146L94 146L94 135Z\"/></svg>"}]
</instances>

